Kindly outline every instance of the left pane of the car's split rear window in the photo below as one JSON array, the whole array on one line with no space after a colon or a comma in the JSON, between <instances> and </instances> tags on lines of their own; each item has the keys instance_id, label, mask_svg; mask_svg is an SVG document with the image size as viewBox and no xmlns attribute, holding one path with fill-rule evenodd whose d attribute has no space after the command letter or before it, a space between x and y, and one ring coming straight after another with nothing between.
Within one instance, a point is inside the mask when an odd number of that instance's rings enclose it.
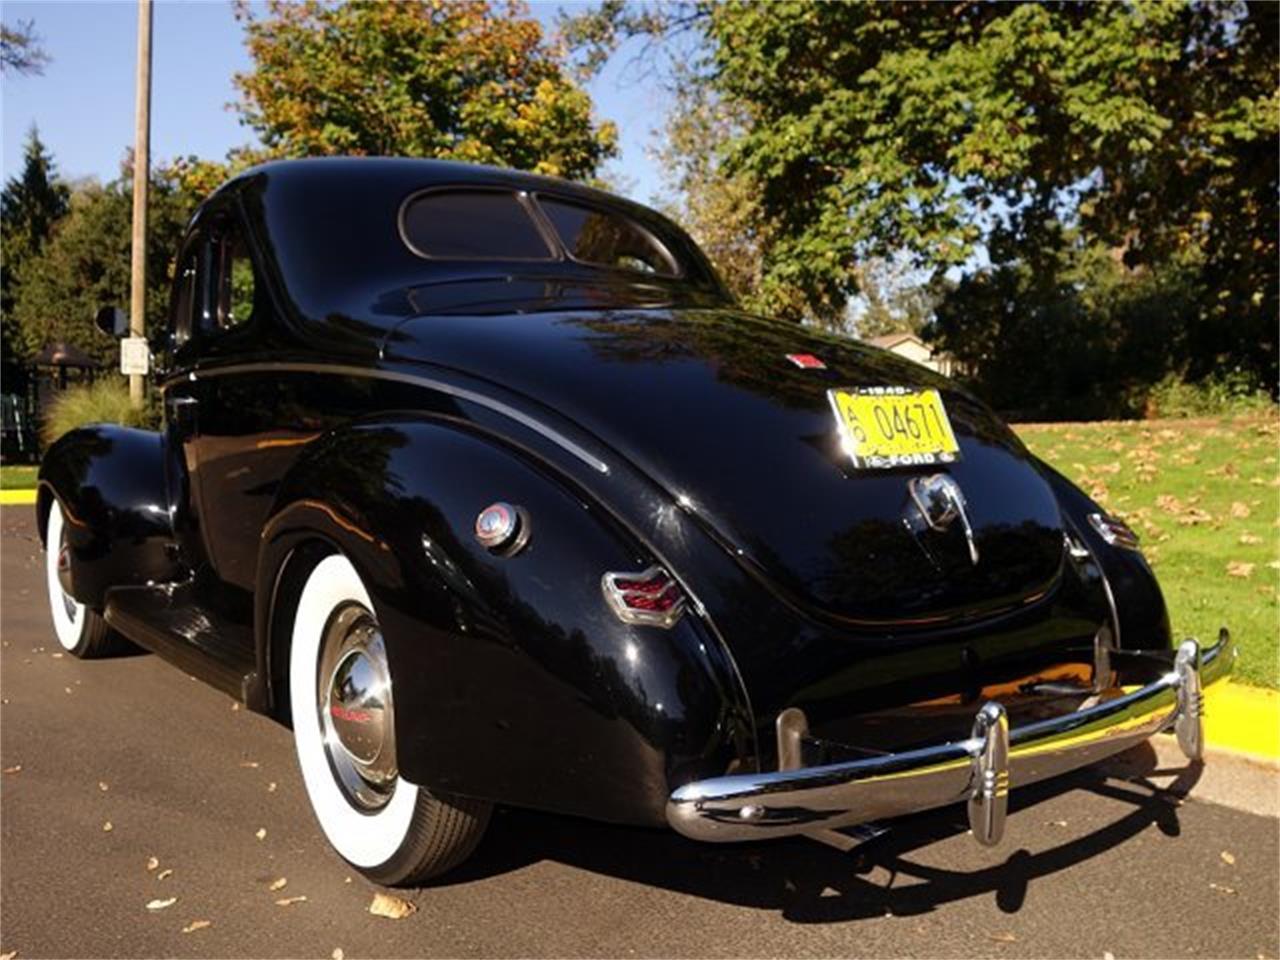
<instances>
[{"instance_id":1,"label":"left pane of the car's split rear window","mask_svg":"<svg viewBox=\"0 0 1280 960\"><path fill-rule=\"evenodd\" d=\"M404 242L419 256L448 260L550 260L552 251L513 193L451 189L410 200Z\"/></svg>"}]
</instances>

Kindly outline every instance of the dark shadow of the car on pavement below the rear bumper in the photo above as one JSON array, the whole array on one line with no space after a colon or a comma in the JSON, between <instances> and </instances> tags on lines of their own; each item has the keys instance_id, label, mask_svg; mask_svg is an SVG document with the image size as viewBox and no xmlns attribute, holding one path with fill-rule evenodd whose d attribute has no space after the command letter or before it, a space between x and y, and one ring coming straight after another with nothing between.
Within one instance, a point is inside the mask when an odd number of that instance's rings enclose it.
<instances>
[{"instance_id":1,"label":"dark shadow of the car on pavement below the rear bumper","mask_svg":"<svg viewBox=\"0 0 1280 960\"><path fill-rule=\"evenodd\" d=\"M710 845L671 831L614 827L526 810L499 810L481 847L442 884L499 876L541 860L739 906L773 910L795 923L835 923L925 914L942 904L995 893L997 906L1016 913L1030 883L1115 849L1151 826L1178 836L1181 797L1199 780L1202 764L1158 769L1147 744L1091 769L1010 795L1006 845L998 863L979 852L966 863L977 869L936 865L946 854L933 850L964 835L961 806L895 820L888 832L844 854L812 840ZM1110 773L1111 776L1107 776ZM1175 777L1157 786L1153 777ZM1129 805L1103 826L1036 852L1016 847L1019 819L1038 804L1083 790ZM1098 819L1091 809L1089 820ZM1041 826L1032 819L1032 823ZM1066 822L1061 822L1066 827ZM952 858L954 859L954 858Z\"/></svg>"}]
</instances>

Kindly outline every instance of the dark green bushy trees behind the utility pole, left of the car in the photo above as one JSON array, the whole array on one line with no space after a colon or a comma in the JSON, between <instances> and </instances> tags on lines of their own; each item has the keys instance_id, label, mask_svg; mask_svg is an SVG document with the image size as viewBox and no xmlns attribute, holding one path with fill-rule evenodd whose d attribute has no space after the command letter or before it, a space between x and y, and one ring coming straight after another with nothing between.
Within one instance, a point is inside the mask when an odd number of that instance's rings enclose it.
<instances>
[{"instance_id":1,"label":"dark green bushy trees behind the utility pole, left of the car","mask_svg":"<svg viewBox=\"0 0 1280 960\"><path fill-rule=\"evenodd\" d=\"M31 356L49 343L79 347L114 366L119 347L93 325L102 306L129 302L133 191L131 177L105 187L91 184L70 198L70 210L37 256L23 262L13 316L18 349ZM195 198L169 180L148 191L147 330L164 326L173 279L172 259Z\"/></svg>"}]
</instances>

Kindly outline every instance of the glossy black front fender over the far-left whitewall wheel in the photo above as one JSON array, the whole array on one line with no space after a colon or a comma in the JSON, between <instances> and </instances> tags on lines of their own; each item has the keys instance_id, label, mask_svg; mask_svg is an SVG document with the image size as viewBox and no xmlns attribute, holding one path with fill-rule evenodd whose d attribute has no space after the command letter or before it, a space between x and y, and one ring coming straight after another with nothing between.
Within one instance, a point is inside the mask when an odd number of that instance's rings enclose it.
<instances>
[{"instance_id":1,"label":"glossy black front fender over the far-left whitewall wheel","mask_svg":"<svg viewBox=\"0 0 1280 960\"><path fill-rule=\"evenodd\" d=\"M41 541L55 497L67 516L72 594L81 603L101 609L110 588L179 577L161 434L110 424L64 434L40 465Z\"/></svg>"}]
</instances>

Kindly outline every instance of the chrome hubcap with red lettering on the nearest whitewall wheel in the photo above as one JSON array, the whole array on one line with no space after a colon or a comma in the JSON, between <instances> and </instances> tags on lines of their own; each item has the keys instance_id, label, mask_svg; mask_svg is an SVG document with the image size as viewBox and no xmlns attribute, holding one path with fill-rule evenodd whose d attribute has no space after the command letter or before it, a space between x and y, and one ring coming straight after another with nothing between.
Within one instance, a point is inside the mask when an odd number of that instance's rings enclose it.
<instances>
[{"instance_id":1,"label":"chrome hubcap with red lettering on the nearest whitewall wheel","mask_svg":"<svg viewBox=\"0 0 1280 960\"><path fill-rule=\"evenodd\" d=\"M325 632L320 724L334 778L353 806L376 810L396 790L396 728L387 646L372 614L351 604Z\"/></svg>"}]
</instances>

